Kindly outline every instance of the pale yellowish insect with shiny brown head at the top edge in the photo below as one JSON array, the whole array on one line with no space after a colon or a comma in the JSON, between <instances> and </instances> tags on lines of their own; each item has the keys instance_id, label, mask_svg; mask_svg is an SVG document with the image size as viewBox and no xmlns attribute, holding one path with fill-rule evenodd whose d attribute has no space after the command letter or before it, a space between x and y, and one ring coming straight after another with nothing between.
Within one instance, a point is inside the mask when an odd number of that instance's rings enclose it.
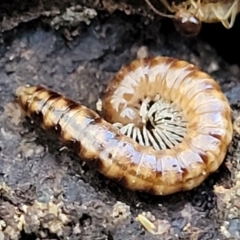
<instances>
[{"instance_id":1,"label":"pale yellowish insect with shiny brown head at the top edge","mask_svg":"<svg viewBox=\"0 0 240 240\"><path fill-rule=\"evenodd\" d=\"M185 0L172 5L168 0L159 0L174 15L158 11L151 0L145 0L148 6L158 15L172 18L176 29L186 36L196 36L201 30L201 23L221 22L230 29L240 12L239 0Z\"/></svg>"}]
</instances>

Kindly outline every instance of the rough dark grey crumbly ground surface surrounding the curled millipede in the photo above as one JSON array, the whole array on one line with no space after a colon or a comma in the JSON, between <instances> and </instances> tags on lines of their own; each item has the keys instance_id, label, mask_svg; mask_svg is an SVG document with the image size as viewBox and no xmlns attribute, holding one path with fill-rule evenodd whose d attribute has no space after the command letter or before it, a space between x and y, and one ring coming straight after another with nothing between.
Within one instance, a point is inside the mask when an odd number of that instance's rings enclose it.
<instances>
[{"instance_id":1,"label":"rough dark grey crumbly ground surface surrounding the curled millipede","mask_svg":"<svg viewBox=\"0 0 240 240\"><path fill-rule=\"evenodd\" d=\"M122 13L81 24L72 41L38 21L3 34L0 239L239 239L240 68L201 37L184 38L160 21ZM189 192L158 197L125 189L22 118L14 103L18 86L42 84L95 110L114 74L146 47L150 56L185 59L212 75L233 109L224 164ZM139 213L157 235L143 228Z\"/></svg>"}]
</instances>

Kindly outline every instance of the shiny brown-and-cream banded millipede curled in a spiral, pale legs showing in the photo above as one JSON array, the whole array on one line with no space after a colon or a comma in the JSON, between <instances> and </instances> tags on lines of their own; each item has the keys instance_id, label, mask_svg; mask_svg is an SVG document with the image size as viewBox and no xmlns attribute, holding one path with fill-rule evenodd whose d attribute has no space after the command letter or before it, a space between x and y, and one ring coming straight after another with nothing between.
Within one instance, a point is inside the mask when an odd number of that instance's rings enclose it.
<instances>
[{"instance_id":1,"label":"shiny brown-and-cream banded millipede curled in a spiral, pale legs showing","mask_svg":"<svg viewBox=\"0 0 240 240\"><path fill-rule=\"evenodd\" d=\"M102 174L156 195L201 184L232 139L231 109L217 82L170 57L122 67L103 96L104 118L41 86L16 95L31 119Z\"/></svg>"}]
</instances>

